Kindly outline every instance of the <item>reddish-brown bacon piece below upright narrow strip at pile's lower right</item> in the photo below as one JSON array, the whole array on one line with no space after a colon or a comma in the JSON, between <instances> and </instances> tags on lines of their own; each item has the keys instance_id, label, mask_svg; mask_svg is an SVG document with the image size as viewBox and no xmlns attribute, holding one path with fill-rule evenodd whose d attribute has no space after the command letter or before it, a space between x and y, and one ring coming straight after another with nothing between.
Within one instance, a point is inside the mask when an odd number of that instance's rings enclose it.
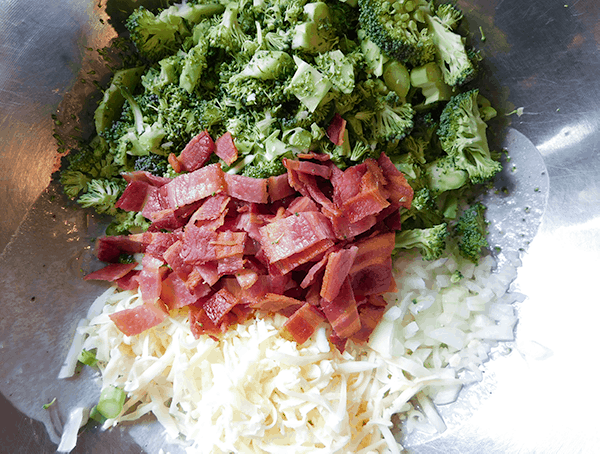
<instances>
[{"instance_id":1,"label":"reddish-brown bacon piece below upright narrow strip at pile's lower right","mask_svg":"<svg viewBox=\"0 0 600 454\"><path fill-rule=\"evenodd\" d=\"M333 301L321 300L321 308L340 338L346 339L360 330L360 318L349 278L344 280Z\"/></svg>"}]
</instances>

